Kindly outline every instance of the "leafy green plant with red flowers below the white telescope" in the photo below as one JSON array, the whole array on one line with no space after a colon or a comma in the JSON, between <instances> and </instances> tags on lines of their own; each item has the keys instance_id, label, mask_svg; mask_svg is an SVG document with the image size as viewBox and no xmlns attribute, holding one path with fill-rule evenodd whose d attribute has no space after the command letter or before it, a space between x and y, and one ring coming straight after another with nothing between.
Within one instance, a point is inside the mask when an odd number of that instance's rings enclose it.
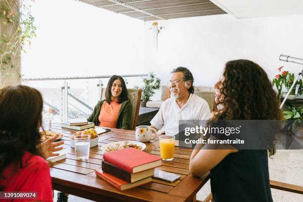
<instances>
[{"instance_id":1,"label":"leafy green plant with red flowers below the white telescope","mask_svg":"<svg viewBox=\"0 0 303 202\"><path fill-rule=\"evenodd\" d=\"M278 68L279 72L281 72L281 69L283 67L284 66L281 66L281 67ZM294 83L294 80L295 80L295 74L294 73L289 73L288 71L283 71L282 73L279 73L275 76L275 78L272 80L272 85L276 86L276 88L278 90L278 94L281 95L283 85L286 87L287 91L289 91L290 87ZM295 86L297 84L300 84L300 86L302 86L302 84L303 84L302 79L299 79L296 82ZM291 95L295 94L295 90L296 89L293 88L293 90L291 92ZM303 94L303 91L299 89L299 95L302 95L302 94Z\"/></svg>"}]
</instances>

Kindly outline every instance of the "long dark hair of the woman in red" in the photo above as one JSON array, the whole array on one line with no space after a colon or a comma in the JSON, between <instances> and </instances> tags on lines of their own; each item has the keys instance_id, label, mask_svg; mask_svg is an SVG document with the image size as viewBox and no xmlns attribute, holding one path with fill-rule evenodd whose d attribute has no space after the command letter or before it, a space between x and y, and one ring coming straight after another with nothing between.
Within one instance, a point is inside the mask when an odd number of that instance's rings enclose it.
<instances>
[{"instance_id":1,"label":"long dark hair of the woman in red","mask_svg":"<svg viewBox=\"0 0 303 202\"><path fill-rule=\"evenodd\" d=\"M40 155L42 109L42 96L36 89L22 85L0 89L0 178L11 163L15 169L23 167L25 151Z\"/></svg>"}]
</instances>

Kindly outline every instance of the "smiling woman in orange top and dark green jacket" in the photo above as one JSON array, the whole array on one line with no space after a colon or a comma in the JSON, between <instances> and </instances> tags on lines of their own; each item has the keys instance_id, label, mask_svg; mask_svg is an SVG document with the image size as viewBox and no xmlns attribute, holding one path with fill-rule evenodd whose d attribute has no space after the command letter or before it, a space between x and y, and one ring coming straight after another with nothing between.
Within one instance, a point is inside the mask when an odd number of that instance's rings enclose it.
<instances>
[{"instance_id":1,"label":"smiling woman in orange top and dark green jacket","mask_svg":"<svg viewBox=\"0 0 303 202\"><path fill-rule=\"evenodd\" d=\"M125 81L121 76L110 77L105 100L99 101L88 118L96 126L130 130L132 126L132 104L127 97Z\"/></svg>"}]
</instances>

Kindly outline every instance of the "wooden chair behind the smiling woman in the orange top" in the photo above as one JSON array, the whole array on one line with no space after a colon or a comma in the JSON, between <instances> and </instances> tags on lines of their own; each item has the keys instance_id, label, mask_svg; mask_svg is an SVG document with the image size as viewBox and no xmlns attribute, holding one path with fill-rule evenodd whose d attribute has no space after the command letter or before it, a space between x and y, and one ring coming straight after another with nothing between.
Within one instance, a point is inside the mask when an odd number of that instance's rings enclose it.
<instances>
[{"instance_id":1,"label":"wooden chair behind the smiling woman in the orange top","mask_svg":"<svg viewBox=\"0 0 303 202\"><path fill-rule=\"evenodd\" d=\"M105 100L106 88L101 88L101 100ZM103 93L104 92L104 93ZM142 89L127 89L127 96L132 103L133 114L130 122L131 130L135 129L139 119Z\"/></svg>"}]
</instances>

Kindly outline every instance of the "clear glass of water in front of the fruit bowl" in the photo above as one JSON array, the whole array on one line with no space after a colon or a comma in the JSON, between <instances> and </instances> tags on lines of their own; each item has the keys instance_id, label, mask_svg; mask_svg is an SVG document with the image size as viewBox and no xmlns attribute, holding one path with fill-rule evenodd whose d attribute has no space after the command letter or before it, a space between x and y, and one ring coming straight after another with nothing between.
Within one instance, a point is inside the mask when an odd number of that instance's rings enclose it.
<instances>
[{"instance_id":1,"label":"clear glass of water in front of the fruit bowl","mask_svg":"<svg viewBox=\"0 0 303 202\"><path fill-rule=\"evenodd\" d=\"M75 153L77 160L86 160L90 155L90 135L77 135L75 140Z\"/></svg>"}]
</instances>

